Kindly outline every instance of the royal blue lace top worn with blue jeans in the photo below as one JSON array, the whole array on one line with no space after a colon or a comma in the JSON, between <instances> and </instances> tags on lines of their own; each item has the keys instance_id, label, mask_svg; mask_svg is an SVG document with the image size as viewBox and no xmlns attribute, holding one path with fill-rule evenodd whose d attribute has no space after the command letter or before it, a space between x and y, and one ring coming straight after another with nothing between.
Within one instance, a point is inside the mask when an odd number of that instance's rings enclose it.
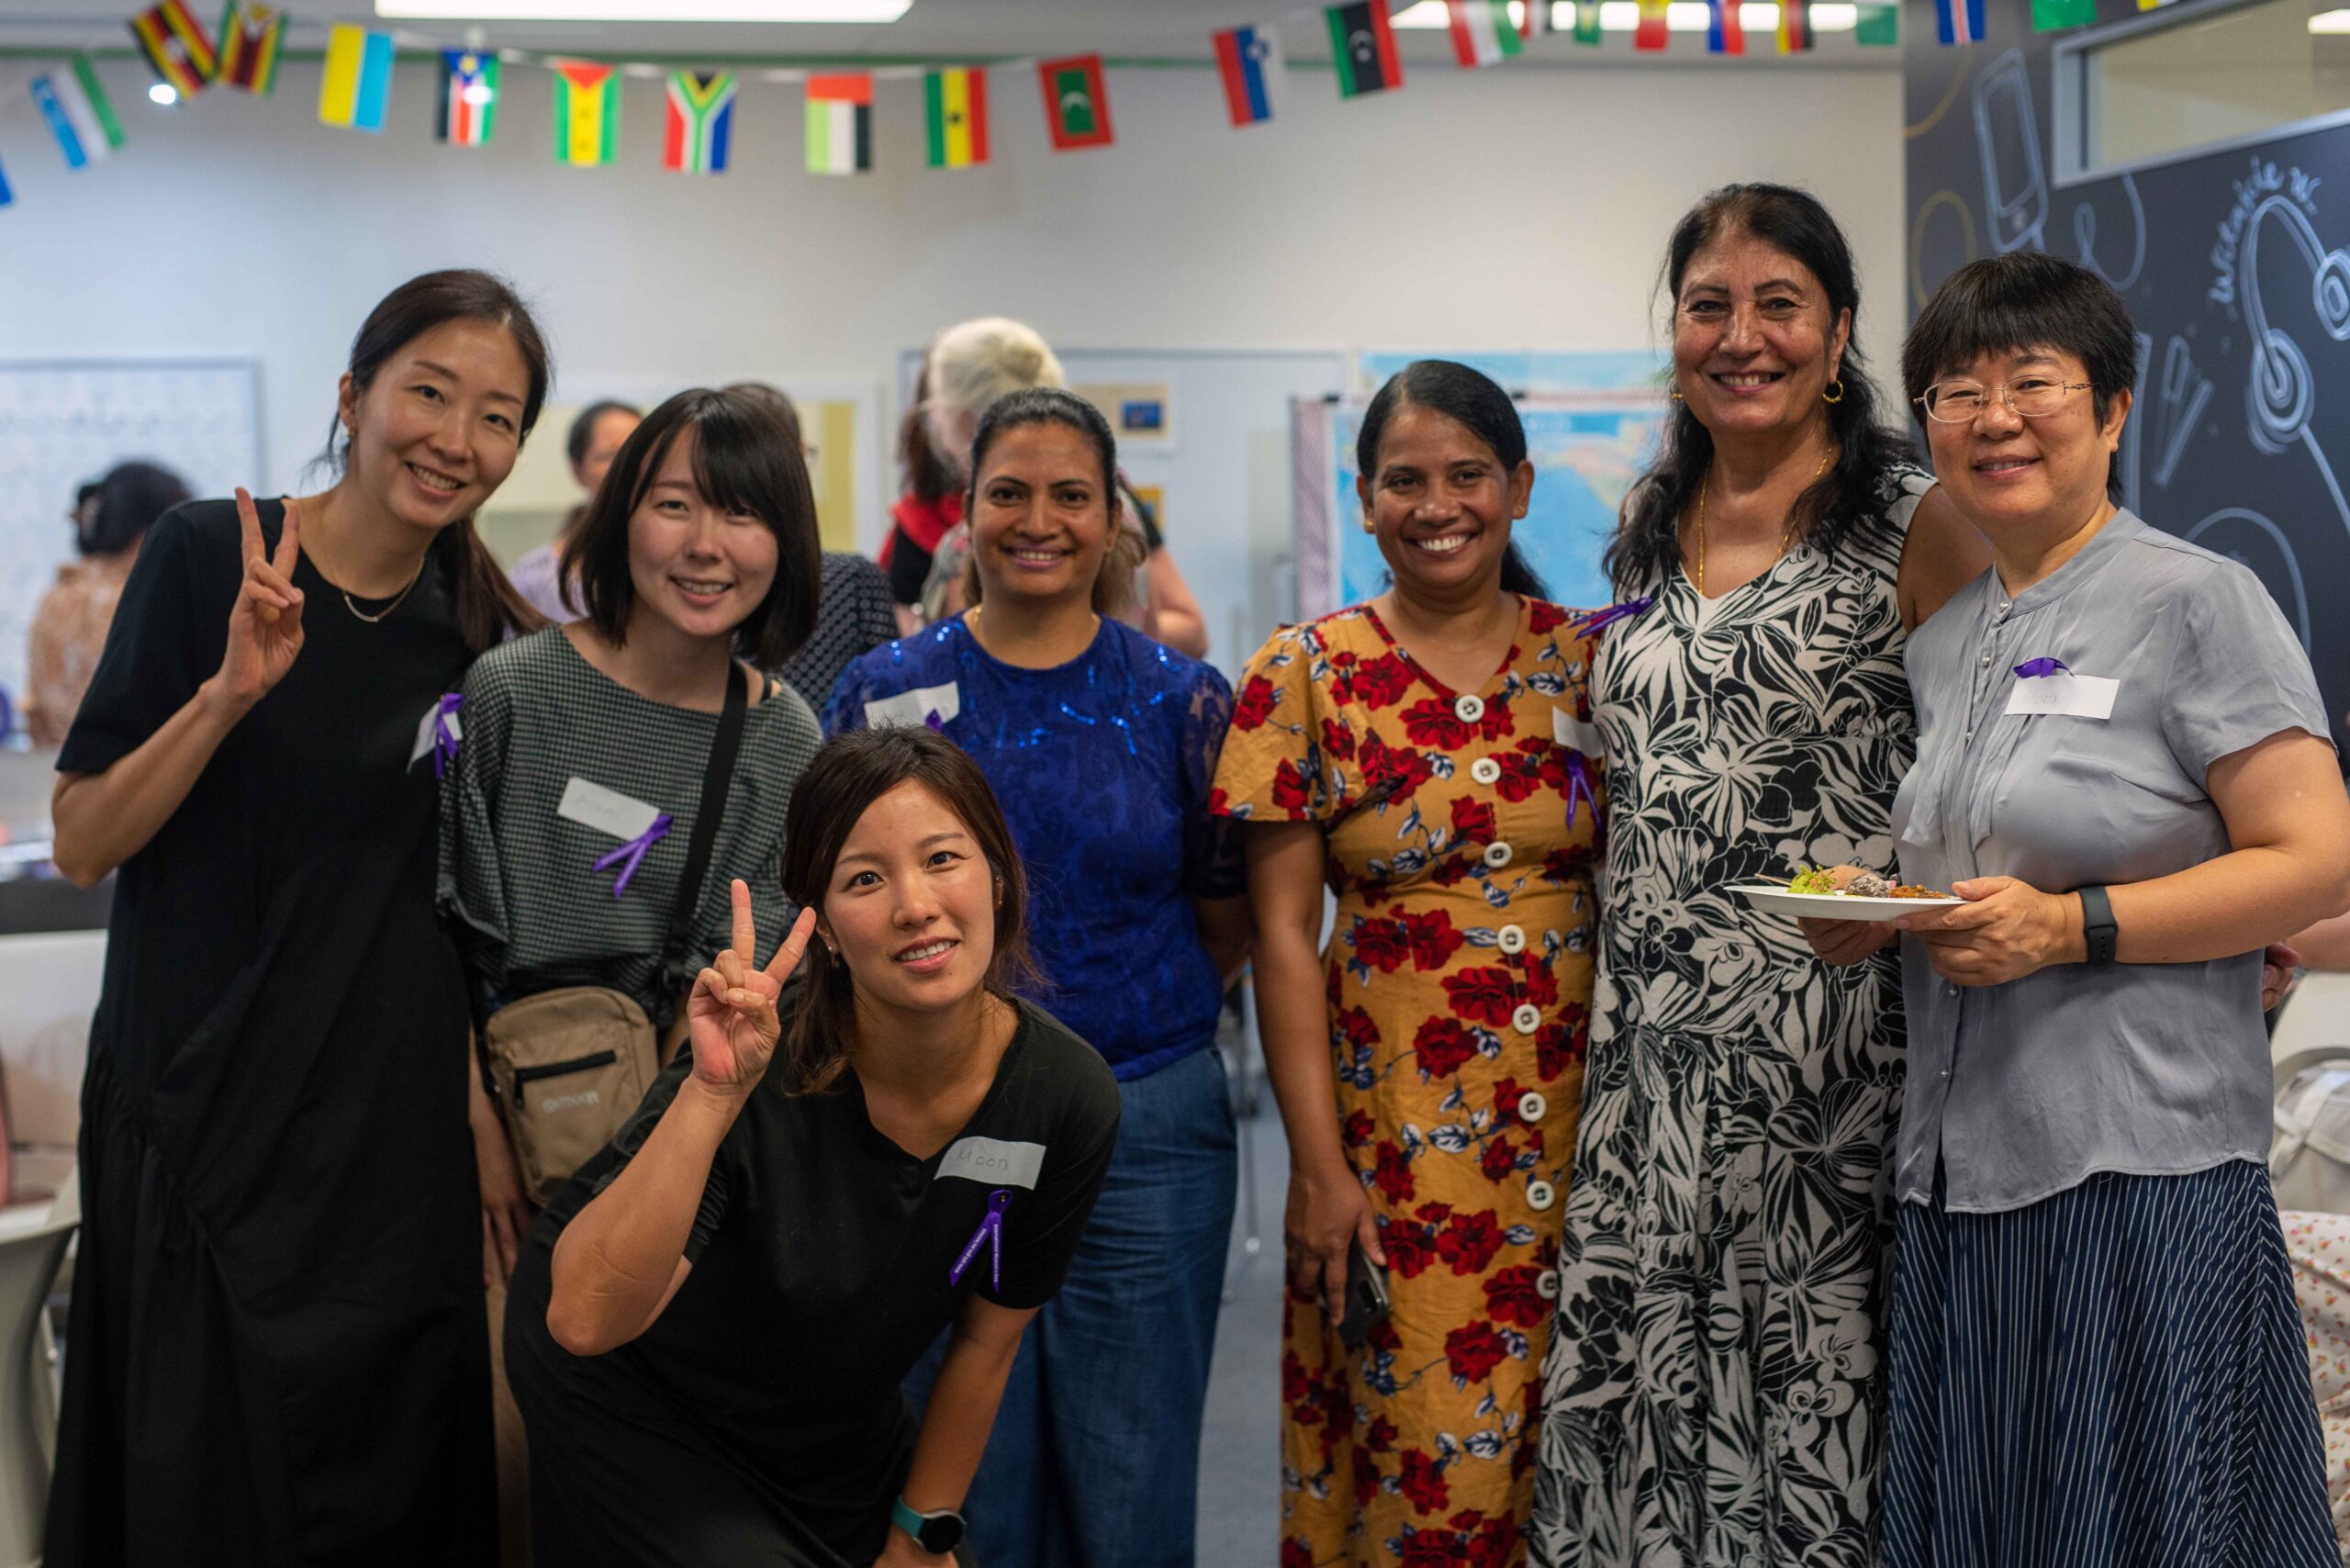
<instances>
[{"instance_id":1,"label":"royal blue lace top worn with blue jeans","mask_svg":"<svg viewBox=\"0 0 2350 1568\"><path fill-rule=\"evenodd\" d=\"M1036 1001L1121 1081L1208 1046L1222 983L1191 900L1248 891L1238 830L1208 816L1224 677L1109 616L1069 663L1022 670L956 616L851 663L825 733L933 715L987 773L1027 865Z\"/></svg>"}]
</instances>

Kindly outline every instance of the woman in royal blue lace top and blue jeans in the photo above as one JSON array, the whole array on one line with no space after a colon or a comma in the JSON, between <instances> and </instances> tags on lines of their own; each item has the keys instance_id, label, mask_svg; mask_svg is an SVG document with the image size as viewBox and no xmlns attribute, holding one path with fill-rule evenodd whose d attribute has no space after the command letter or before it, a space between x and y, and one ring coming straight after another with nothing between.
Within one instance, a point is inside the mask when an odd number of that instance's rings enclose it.
<instances>
[{"instance_id":1,"label":"woman in royal blue lace top and blue jeans","mask_svg":"<svg viewBox=\"0 0 2350 1568\"><path fill-rule=\"evenodd\" d=\"M980 602L858 658L827 733L928 724L978 759L1034 891L1036 997L1119 1079L1109 1178L1020 1347L971 1490L980 1561L1191 1563L1201 1410L1231 1234L1215 1051L1248 952L1246 867L1208 813L1231 686L1123 625L1137 567L1093 404L1010 393L971 451ZM919 1380L919 1373L916 1373Z\"/></svg>"}]
</instances>

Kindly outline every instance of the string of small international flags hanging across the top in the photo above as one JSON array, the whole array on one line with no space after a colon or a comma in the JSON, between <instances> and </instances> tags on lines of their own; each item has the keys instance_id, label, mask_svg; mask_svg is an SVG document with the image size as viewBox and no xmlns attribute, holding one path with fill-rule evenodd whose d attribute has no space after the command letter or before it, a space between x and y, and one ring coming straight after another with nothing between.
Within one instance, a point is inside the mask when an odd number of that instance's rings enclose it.
<instances>
[{"instance_id":1,"label":"string of small international flags hanging across the top","mask_svg":"<svg viewBox=\"0 0 2350 1568\"><path fill-rule=\"evenodd\" d=\"M1633 0L1638 26L1633 47L1664 49L1668 0ZM2030 0L2042 7L2094 7L2094 0ZM2164 0L2138 0L2141 7ZM1739 0L1704 0L1706 49L1746 54ZM1943 42L1981 35L1983 0L1936 0ZM1518 59L1528 42L1553 31L1551 0L1525 0L1511 14L1509 0L1445 0L1452 54L1462 68L1488 68ZM1572 14L1579 45L1600 42L1600 0L1558 0ZM1777 47L1781 54L1814 45L1812 0L1779 0ZM1856 7L1861 45L1899 42L1899 5ZM1953 35L1953 12L1958 14ZM1351 0L1285 12L1283 19L1321 19L1330 33L1332 73L1342 99L1403 87L1389 0ZM1969 28L1972 19L1972 28ZM273 96L277 63L291 16L280 5L226 0L219 26L207 31L188 0L157 0L129 19L132 38L155 80L179 99L207 87ZM1565 31L1565 28L1563 28ZM1288 75L1281 38L1271 24L1213 33L1224 108L1234 127L1274 120ZM672 71L665 66L613 63L536 54L526 49L446 47L444 40L360 24L334 24L327 33L317 118L322 125L383 132L390 122L392 66L407 52L428 52L439 63L432 132L454 146L486 146L498 129L498 103L508 66L543 68L555 78L555 158L566 165L609 165L620 141L620 82L665 82L663 167L682 174L724 174L733 143L740 78L731 71ZM872 169L874 80L924 82L924 141L933 169L968 169L989 162L989 75L1034 71L1053 150L1100 148L1116 141L1109 87L1100 54L1015 59L987 66L877 66L872 71L757 71L757 80L799 82L806 113L806 167L811 174L865 174ZM33 108L47 122L70 169L103 162L125 146L122 120L106 96L87 54L70 54L28 82ZM0 169L0 207L12 202Z\"/></svg>"}]
</instances>

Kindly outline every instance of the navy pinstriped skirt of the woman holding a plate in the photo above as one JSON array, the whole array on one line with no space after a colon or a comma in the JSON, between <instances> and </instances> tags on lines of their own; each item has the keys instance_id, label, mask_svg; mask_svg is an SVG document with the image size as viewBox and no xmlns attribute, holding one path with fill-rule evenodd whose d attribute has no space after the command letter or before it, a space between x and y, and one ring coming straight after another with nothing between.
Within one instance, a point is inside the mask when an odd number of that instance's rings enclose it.
<instances>
[{"instance_id":1,"label":"navy pinstriped skirt of the woman holding a plate","mask_svg":"<svg viewBox=\"0 0 2350 1568\"><path fill-rule=\"evenodd\" d=\"M1899 1213L1887 1568L2341 1568L2263 1166Z\"/></svg>"}]
</instances>

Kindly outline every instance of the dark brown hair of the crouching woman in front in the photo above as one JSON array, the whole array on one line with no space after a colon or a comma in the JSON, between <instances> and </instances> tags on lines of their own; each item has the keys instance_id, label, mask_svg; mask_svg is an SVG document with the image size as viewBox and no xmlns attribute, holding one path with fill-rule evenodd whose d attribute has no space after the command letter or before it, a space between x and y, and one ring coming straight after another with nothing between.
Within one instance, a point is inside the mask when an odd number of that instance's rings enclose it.
<instances>
[{"instance_id":1,"label":"dark brown hair of the crouching woman in front","mask_svg":"<svg viewBox=\"0 0 2350 1568\"><path fill-rule=\"evenodd\" d=\"M996 879L996 943L987 959L985 985L1013 1001L1018 990L1036 990L1041 976L1027 945L1027 875L1013 830L1003 823L996 792L987 788L964 748L921 726L855 729L834 736L792 788L792 809L783 827L783 893L801 910L825 907L832 870L841 846L855 832L867 806L902 783L919 783L980 844L987 870ZM858 1044L858 994L846 964L825 957L822 943L808 943L801 959L801 1004L783 1041L785 1093L820 1093L841 1077Z\"/></svg>"}]
</instances>

